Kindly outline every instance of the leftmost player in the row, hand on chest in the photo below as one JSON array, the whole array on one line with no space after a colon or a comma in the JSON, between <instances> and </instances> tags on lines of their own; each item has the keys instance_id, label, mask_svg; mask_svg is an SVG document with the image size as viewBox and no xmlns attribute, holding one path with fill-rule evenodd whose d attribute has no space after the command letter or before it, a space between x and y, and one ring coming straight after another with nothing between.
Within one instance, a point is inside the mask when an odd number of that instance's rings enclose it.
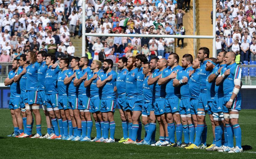
<instances>
[{"instance_id":1,"label":"leftmost player in the row, hand on chest","mask_svg":"<svg viewBox=\"0 0 256 159\"><path fill-rule=\"evenodd\" d=\"M5 86L10 85L10 101L9 109L11 111L12 123L14 126L14 132L8 137L16 137L23 133L23 121L20 115L20 84L19 82L14 82L14 76L19 70L19 59L15 58L12 61L12 70L8 73L7 78L5 79Z\"/></svg>"}]
</instances>

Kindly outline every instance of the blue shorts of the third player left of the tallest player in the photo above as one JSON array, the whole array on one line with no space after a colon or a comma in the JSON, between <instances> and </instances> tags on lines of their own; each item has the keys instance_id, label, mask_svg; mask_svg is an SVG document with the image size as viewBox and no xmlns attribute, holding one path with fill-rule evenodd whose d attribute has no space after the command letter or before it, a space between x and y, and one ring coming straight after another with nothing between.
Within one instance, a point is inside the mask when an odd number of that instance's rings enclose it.
<instances>
[{"instance_id":1,"label":"blue shorts of the third player left of the tallest player","mask_svg":"<svg viewBox=\"0 0 256 159\"><path fill-rule=\"evenodd\" d=\"M164 104L164 112L165 113L178 112L179 107L180 107L180 98L175 97L175 98L165 99L165 104Z\"/></svg>"}]
</instances>

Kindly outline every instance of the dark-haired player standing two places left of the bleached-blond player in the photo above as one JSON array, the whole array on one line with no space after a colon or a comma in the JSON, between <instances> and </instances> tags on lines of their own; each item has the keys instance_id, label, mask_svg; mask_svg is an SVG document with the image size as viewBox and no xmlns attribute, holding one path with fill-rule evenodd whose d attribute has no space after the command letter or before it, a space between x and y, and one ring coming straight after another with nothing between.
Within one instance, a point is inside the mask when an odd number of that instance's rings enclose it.
<instances>
[{"instance_id":1,"label":"dark-haired player standing two places left of the bleached-blond player","mask_svg":"<svg viewBox=\"0 0 256 159\"><path fill-rule=\"evenodd\" d=\"M72 58L70 62L72 70L67 73L67 76L64 79L64 84L68 86L68 104L72 109L69 109L71 119L68 120L69 137L64 138L63 140L73 140L77 136L77 121L74 117L74 113L78 110L78 87L74 86L74 79L76 77L76 72L79 71L79 61L79 57Z\"/></svg>"}]
</instances>

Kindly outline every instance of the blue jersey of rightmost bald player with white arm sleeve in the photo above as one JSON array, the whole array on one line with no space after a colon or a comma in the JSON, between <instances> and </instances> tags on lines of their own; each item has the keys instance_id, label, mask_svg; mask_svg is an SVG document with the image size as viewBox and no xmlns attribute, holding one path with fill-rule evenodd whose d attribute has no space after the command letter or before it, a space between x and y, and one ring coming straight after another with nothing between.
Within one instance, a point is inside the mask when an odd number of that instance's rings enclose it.
<instances>
[{"instance_id":1,"label":"blue jersey of rightmost bald player with white arm sleeve","mask_svg":"<svg viewBox=\"0 0 256 159\"><path fill-rule=\"evenodd\" d=\"M241 79L242 78L242 69L239 67L238 64L233 63L226 66L226 69L230 69L230 74L225 77L223 81L223 92L224 97L229 97L233 93L233 88L235 87L234 79ZM221 74L225 72L225 69L221 70ZM241 96L241 92L239 91L237 97Z\"/></svg>"}]
</instances>

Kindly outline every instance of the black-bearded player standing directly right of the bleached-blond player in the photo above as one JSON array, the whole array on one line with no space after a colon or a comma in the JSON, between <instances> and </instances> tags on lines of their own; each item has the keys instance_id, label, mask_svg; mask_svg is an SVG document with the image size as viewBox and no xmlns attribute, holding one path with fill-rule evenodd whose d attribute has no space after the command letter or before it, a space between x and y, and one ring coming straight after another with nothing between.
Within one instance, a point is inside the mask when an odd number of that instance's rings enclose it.
<instances>
[{"instance_id":1,"label":"black-bearded player standing directly right of the bleached-blond player","mask_svg":"<svg viewBox=\"0 0 256 159\"><path fill-rule=\"evenodd\" d=\"M116 107L116 86L117 72L112 70L113 61L105 59L103 63L103 72L98 74L97 87L100 88L101 94L101 114L104 121L104 139L102 142L114 143L114 134L116 124L114 121L114 112ZM110 129L110 137L108 139L108 131Z\"/></svg>"}]
</instances>

